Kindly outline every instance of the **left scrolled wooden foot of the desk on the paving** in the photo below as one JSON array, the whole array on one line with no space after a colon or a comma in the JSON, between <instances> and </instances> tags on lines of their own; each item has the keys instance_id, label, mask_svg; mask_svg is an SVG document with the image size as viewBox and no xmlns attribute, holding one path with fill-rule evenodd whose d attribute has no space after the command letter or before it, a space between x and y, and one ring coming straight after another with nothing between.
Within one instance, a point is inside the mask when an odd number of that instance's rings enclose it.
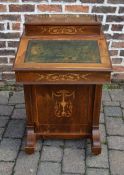
<instances>
[{"instance_id":1,"label":"left scrolled wooden foot of the desk on the paving","mask_svg":"<svg viewBox=\"0 0 124 175\"><path fill-rule=\"evenodd\" d=\"M27 154L34 153L36 143L36 135L32 127L27 128L27 142L25 146L25 152Z\"/></svg>"}]
</instances>

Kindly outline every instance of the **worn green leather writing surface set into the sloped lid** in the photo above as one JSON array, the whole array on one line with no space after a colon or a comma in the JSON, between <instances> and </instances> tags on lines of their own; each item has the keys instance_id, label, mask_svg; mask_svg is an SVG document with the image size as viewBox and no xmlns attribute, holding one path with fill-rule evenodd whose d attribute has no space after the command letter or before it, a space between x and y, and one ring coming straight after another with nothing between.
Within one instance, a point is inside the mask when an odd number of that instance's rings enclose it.
<instances>
[{"instance_id":1,"label":"worn green leather writing surface set into the sloped lid","mask_svg":"<svg viewBox=\"0 0 124 175\"><path fill-rule=\"evenodd\" d=\"M25 62L100 63L96 40L29 40Z\"/></svg>"}]
</instances>

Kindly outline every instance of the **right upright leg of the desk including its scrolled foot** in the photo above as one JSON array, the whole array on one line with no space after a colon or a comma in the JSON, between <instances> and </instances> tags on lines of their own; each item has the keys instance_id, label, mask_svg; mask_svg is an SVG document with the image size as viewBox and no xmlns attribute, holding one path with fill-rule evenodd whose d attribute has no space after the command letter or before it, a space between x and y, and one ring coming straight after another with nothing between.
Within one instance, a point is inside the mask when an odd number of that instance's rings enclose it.
<instances>
[{"instance_id":1,"label":"right upright leg of the desk including its scrolled foot","mask_svg":"<svg viewBox=\"0 0 124 175\"><path fill-rule=\"evenodd\" d=\"M92 124L92 153L98 155L101 153L99 117L101 107L102 85L95 85L93 124Z\"/></svg>"}]
</instances>

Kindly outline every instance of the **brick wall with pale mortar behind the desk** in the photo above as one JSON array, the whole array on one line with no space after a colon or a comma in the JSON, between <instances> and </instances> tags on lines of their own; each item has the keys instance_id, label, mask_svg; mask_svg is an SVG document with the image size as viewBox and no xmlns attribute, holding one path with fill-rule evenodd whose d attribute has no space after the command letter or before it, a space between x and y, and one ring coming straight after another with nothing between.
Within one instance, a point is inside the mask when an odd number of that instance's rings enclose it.
<instances>
[{"instance_id":1,"label":"brick wall with pale mortar behind the desk","mask_svg":"<svg viewBox=\"0 0 124 175\"><path fill-rule=\"evenodd\" d=\"M14 79L15 59L28 15L96 14L102 22L114 68L124 77L124 0L0 0L0 80Z\"/></svg>"}]
</instances>

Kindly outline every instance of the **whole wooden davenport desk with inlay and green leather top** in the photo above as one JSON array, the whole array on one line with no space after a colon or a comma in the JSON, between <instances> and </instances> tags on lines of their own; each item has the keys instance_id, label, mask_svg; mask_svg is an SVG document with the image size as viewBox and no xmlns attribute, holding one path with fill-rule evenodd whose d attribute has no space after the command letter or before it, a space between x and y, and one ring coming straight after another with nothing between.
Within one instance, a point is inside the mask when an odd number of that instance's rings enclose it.
<instances>
[{"instance_id":1,"label":"whole wooden davenport desk with inlay and green leather top","mask_svg":"<svg viewBox=\"0 0 124 175\"><path fill-rule=\"evenodd\" d=\"M96 17L41 15L27 22L14 70L24 85L27 153L38 138L83 137L94 154L101 152L102 84L110 82L112 67Z\"/></svg>"}]
</instances>

